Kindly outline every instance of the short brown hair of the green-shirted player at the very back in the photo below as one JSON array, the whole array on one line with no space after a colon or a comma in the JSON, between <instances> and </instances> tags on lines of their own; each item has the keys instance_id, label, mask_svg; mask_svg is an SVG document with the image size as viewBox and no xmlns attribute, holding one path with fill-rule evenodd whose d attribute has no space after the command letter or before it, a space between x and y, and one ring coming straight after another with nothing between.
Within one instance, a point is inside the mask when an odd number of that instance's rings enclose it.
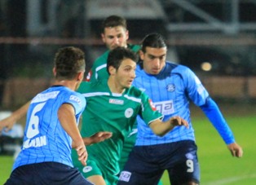
<instances>
[{"instance_id":1,"label":"short brown hair of the green-shirted player at the very back","mask_svg":"<svg viewBox=\"0 0 256 185\"><path fill-rule=\"evenodd\" d=\"M108 16L101 25L101 32L104 33L105 28L122 26L124 29L127 29L126 19L118 15Z\"/></svg>"}]
</instances>

